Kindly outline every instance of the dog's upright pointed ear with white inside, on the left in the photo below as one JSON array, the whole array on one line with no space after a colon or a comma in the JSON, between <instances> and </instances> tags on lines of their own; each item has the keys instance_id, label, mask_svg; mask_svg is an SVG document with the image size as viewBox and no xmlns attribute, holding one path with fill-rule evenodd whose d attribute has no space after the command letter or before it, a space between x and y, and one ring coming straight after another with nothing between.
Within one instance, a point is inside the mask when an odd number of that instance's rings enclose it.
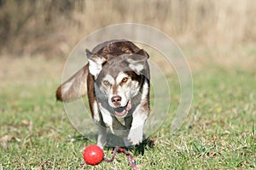
<instances>
[{"instance_id":1,"label":"dog's upright pointed ear with white inside, on the left","mask_svg":"<svg viewBox=\"0 0 256 170\"><path fill-rule=\"evenodd\" d=\"M96 79L100 74L100 72L102 71L102 64L106 62L107 59L103 58L98 54L91 53L88 49L86 49L85 51L88 57L89 72Z\"/></svg>"}]
</instances>

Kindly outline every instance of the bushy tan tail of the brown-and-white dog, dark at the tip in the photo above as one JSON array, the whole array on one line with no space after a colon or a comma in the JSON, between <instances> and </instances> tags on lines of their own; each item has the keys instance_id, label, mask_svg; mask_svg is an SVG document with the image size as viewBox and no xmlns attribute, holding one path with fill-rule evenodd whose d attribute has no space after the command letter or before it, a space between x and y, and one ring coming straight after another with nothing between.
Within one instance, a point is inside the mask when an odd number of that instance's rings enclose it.
<instances>
[{"instance_id":1,"label":"bushy tan tail of the brown-and-white dog, dark at the tip","mask_svg":"<svg viewBox=\"0 0 256 170\"><path fill-rule=\"evenodd\" d=\"M78 99L87 92L88 65L84 65L56 90L56 99L64 102Z\"/></svg>"}]
</instances>

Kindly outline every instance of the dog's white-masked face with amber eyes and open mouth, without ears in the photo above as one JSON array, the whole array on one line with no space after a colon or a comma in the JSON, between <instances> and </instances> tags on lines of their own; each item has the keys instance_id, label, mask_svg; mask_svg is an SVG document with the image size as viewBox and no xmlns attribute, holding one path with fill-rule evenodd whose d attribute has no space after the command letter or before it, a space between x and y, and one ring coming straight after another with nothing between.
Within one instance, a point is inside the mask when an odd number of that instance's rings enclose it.
<instances>
[{"instance_id":1,"label":"dog's white-masked face with amber eyes and open mouth, without ears","mask_svg":"<svg viewBox=\"0 0 256 170\"><path fill-rule=\"evenodd\" d=\"M113 68L112 71L105 70L108 66ZM108 105L113 108L115 116L124 117L131 110L131 98L139 93L143 77L135 71L123 71L118 65L108 66L103 67L96 84L108 97Z\"/></svg>"}]
</instances>

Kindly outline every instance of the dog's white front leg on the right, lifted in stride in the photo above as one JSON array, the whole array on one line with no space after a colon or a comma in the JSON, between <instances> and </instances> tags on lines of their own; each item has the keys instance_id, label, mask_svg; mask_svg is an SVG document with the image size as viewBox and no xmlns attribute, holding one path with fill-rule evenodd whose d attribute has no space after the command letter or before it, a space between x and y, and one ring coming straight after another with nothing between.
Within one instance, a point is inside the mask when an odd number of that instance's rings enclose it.
<instances>
[{"instance_id":1,"label":"dog's white front leg on the right, lifted in stride","mask_svg":"<svg viewBox=\"0 0 256 170\"><path fill-rule=\"evenodd\" d=\"M127 138L131 144L139 144L143 141L143 127L147 117L148 111L143 111L142 108L133 114L131 129Z\"/></svg>"}]
</instances>

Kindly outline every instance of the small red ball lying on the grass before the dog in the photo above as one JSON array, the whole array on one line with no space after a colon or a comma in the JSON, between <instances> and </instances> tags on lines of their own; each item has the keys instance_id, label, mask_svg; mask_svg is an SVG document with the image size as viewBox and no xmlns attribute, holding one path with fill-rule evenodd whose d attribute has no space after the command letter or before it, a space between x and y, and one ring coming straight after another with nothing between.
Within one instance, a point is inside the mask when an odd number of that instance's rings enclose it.
<instances>
[{"instance_id":1,"label":"small red ball lying on the grass before the dog","mask_svg":"<svg viewBox=\"0 0 256 170\"><path fill-rule=\"evenodd\" d=\"M84 161L89 165L97 165L104 158L103 150L96 144L87 146L84 150Z\"/></svg>"}]
</instances>

